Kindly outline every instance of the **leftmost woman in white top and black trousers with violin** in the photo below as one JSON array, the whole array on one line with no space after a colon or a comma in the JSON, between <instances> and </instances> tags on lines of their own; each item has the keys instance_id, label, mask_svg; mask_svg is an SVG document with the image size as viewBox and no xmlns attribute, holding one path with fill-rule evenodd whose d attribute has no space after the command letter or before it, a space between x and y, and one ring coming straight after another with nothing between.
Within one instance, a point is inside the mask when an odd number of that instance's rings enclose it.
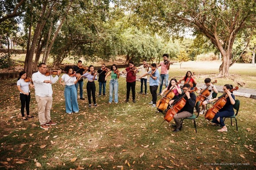
<instances>
[{"instance_id":1,"label":"leftmost woman in white top and black trousers with violin","mask_svg":"<svg viewBox=\"0 0 256 170\"><path fill-rule=\"evenodd\" d=\"M29 86L30 87L34 87L34 84L32 84L30 81L25 81L25 79L27 78L27 73L22 71L19 73L19 78L17 81L17 88L19 90L19 99L20 99L20 103L21 103L21 107L20 107L20 112L22 115L22 120L23 121L27 121L27 117L34 117L29 115L29 103L30 103L30 90L29 90ZM24 108L26 106L26 111L27 111L27 117L25 117L24 115Z\"/></svg>"}]
</instances>

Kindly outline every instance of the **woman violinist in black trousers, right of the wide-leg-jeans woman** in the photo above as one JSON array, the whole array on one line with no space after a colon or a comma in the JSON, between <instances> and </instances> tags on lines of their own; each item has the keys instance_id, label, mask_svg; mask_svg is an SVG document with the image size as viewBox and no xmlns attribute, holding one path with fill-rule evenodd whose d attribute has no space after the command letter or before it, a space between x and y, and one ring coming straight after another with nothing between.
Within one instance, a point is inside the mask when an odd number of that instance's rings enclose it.
<instances>
[{"instance_id":1,"label":"woman violinist in black trousers, right of the wide-leg-jeans woman","mask_svg":"<svg viewBox=\"0 0 256 170\"><path fill-rule=\"evenodd\" d=\"M96 107L97 106L96 97L95 97L96 86L95 86L94 80L97 80L97 72L94 71L93 65L90 65L89 66L89 72L86 72L82 76L84 76L88 79L88 82L86 84L86 90L87 90L87 97L88 97L89 107L92 106L91 95L93 96L93 105Z\"/></svg>"}]
</instances>

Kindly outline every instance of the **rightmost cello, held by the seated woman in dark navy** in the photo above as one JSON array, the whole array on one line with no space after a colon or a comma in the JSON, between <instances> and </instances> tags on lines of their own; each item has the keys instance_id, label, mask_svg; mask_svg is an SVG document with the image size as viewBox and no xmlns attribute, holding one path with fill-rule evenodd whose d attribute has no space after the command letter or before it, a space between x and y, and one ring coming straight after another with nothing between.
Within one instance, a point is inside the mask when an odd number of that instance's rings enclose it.
<instances>
[{"instance_id":1,"label":"rightmost cello, held by the seated woman in dark navy","mask_svg":"<svg viewBox=\"0 0 256 170\"><path fill-rule=\"evenodd\" d=\"M238 87L235 87L233 89L230 90L230 92L232 91L236 91L238 90ZM205 118L210 121L213 119L213 117L219 112L219 110L221 110L221 108L226 104L227 102L227 97L225 97L227 93L222 94L219 99L213 103L213 107L211 107L210 109L207 110Z\"/></svg>"}]
</instances>

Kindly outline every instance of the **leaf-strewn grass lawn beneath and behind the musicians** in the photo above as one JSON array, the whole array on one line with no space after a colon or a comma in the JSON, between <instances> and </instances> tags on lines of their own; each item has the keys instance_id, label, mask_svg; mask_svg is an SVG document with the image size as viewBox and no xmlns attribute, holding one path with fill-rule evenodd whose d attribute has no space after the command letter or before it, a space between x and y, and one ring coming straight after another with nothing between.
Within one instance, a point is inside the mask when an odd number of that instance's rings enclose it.
<instances>
[{"instance_id":1,"label":"leaf-strewn grass lawn beneath and behind the musicians","mask_svg":"<svg viewBox=\"0 0 256 170\"><path fill-rule=\"evenodd\" d=\"M185 76L190 70L199 74L198 81L202 83L206 78L204 75L218 73L218 68L192 70L185 63L182 67L172 65L169 79ZM252 68L252 72L246 70L241 65L237 70L230 68L236 79L243 79L250 88L256 89L251 85L256 82L256 69ZM233 83L230 79L217 80L217 85ZM255 99L236 96L240 100L238 131L235 121L231 125L230 120L226 120L228 132L217 132L219 127L211 125L201 115L196 120L197 133L193 122L188 120L184 121L182 131L175 133L172 132L172 122L160 125L163 114L147 104L151 95L138 94L140 82L136 82L136 103L131 100L124 102L126 82L120 77L119 103L108 104L108 81L107 95L96 97L98 107L92 108L88 107L86 83L87 80L84 84L86 100L78 100L79 113L72 115L65 113L64 87L53 84L51 117L58 124L46 131L39 128L34 89L31 89L30 110L35 118L22 121L16 79L1 80L0 86L6 90L0 94L0 169L256 169ZM97 94L97 82L96 87Z\"/></svg>"}]
</instances>

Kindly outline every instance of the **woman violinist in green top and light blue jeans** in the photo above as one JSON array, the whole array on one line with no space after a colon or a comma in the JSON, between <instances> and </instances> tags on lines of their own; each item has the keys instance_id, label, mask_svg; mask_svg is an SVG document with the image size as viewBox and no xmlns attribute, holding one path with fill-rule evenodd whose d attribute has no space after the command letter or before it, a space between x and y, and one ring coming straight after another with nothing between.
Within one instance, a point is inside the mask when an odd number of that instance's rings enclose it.
<instances>
[{"instance_id":1,"label":"woman violinist in green top and light blue jeans","mask_svg":"<svg viewBox=\"0 0 256 170\"><path fill-rule=\"evenodd\" d=\"M107 73L105 80L110 76L111 80L109 81L109 104L112 103L113 100L113 91L115 93L114 102L118 103L118 79L119 79L120 71L117 69L116 64L111 66L110 72Z\"/></svg>"}]
</instances>

